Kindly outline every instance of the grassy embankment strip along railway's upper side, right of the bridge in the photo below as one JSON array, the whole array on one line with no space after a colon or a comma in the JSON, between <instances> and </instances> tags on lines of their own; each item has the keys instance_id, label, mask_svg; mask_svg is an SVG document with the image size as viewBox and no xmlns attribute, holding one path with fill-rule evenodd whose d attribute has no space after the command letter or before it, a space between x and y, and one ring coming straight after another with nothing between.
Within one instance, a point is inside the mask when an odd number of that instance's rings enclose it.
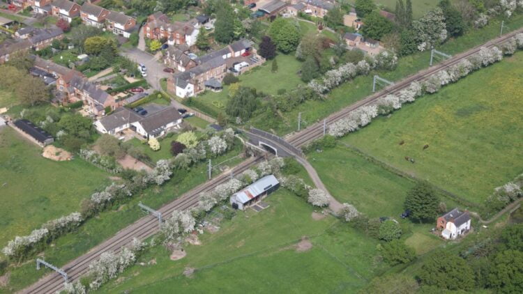
<instances>
[{"instance_id":1,"label":"grassy embankment strip along railway's upper side, right of the bridge","mask_svg":"<svg viewBox=\"0 0 523 294\"><path fill-rule=\"evenodd\" d=\"M509 20L510 24L508 27L510 30L519 29L523 26L523 15L515 15ZM446 52L447 54L457 54L464 52L467 49L483 44L492 38L499 36L499 27L501 21L491 20L488 26L483 29L472 30L466 33L464 36L448 40L444 45L439 48L440 51ZM508 30L504 31L505 33ZM292 111L286 112L283 115L282 123L275 128L275 132L278 134L288 134L296 130L296 119L298 113L301 114L302 127L307 127L312 123L316 123L326 116L332 114L335 111L339 111L343 107L357 102L365 98L367 95L372 94L372 77L379 75L390 81L399 81L405 77L412 75L420 70L429 67L430 52L418 52L411 56L405 56L399 59L397 68L391 72L370 72L367 76L356 77L356 79L346 82L335 88L331 93L328 94L326 100L321 101L307 101L301 105L298 105ZM253 120L252 123L256 127L261 129L267 129L264 121Z\"/></svg>"}]
</instances>

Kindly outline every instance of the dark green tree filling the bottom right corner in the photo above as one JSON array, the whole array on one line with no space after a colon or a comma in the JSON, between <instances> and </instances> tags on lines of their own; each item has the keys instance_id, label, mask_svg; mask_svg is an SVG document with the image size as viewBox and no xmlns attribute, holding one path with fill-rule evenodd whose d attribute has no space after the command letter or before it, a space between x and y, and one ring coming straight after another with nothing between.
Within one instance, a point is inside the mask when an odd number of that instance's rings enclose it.
<instances>
[{"instance_id":1,"label":"dark green tree filling the bottom right corner","mask_svg":"<svg viewBox=\"0 0 523 294\"><path fill-rule=\"evenodd\" d=\"M523 293L523 252L506 250L494 256L488 286L495 293Z\"/></svg>"}]
</instances>

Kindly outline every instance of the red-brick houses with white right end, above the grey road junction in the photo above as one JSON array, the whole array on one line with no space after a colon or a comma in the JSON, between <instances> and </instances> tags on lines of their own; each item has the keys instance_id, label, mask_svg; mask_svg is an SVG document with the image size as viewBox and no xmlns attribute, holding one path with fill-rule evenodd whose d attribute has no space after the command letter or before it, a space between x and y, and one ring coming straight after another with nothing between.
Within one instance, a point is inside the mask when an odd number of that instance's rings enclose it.
<instances>
[{"instance_id":1,"label":"red-brick houses with white right end, above the grey road junction","mask_svg":"<svg viewBox=\"0 0 523 294\"><path fill-rule=\"evenodd\" d=\"M198 30L189 22L171 22L163 13L147 17L144 36L151 40L167 40L169 45L195 45Z\"/></svg>"}]
</instances>

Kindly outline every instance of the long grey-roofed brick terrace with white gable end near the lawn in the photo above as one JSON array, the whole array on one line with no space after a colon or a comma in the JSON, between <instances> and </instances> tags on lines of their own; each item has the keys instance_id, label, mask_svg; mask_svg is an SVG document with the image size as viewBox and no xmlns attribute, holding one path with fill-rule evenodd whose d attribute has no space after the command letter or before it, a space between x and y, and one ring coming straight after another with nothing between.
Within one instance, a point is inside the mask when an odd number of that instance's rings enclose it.
<instances>
[{"instance_id":1,"label":"long grey-roofed brick terrace with white gable end near the lawn","mask_svg":"<svg viewBox=\"0 0 523 294\"><path fill-rule=\"evenodd\" d=\"M215 79L220 82L227 69L234 73L245 72L264 62L257 51L252 47L250 40L238 40L227 47L216 50L195 59L197 66L183 72L178 72L167 82L167 89L176 93L181 98L192 97L206 88L218 90L220 87L216 82L208 82ZM240 70L236 70L238 64ZM221 83L220 83L221 84Z\"/></svg>"}]
</instances>

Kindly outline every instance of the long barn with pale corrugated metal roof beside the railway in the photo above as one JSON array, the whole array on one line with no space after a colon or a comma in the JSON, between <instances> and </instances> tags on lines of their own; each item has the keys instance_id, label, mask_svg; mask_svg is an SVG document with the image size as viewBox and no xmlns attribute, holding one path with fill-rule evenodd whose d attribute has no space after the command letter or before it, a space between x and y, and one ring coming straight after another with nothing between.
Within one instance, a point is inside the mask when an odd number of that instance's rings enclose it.
<instances>
[{"instance_id":1,"label":"long barn with pale corrugated metal roof beside the railway","mask_svg":"<svg viewBox=\"0 0 523 294\"><path fill-rule=\"evenodd\" d=\"M278 189L280 182L273 175L264 176L255 183L252 183L242 189L240 192L234 193L229 199L232 208L244 210L254 203L260 201L264 196L271 194L271 192Z\"/></svg>"}]
</instances>

